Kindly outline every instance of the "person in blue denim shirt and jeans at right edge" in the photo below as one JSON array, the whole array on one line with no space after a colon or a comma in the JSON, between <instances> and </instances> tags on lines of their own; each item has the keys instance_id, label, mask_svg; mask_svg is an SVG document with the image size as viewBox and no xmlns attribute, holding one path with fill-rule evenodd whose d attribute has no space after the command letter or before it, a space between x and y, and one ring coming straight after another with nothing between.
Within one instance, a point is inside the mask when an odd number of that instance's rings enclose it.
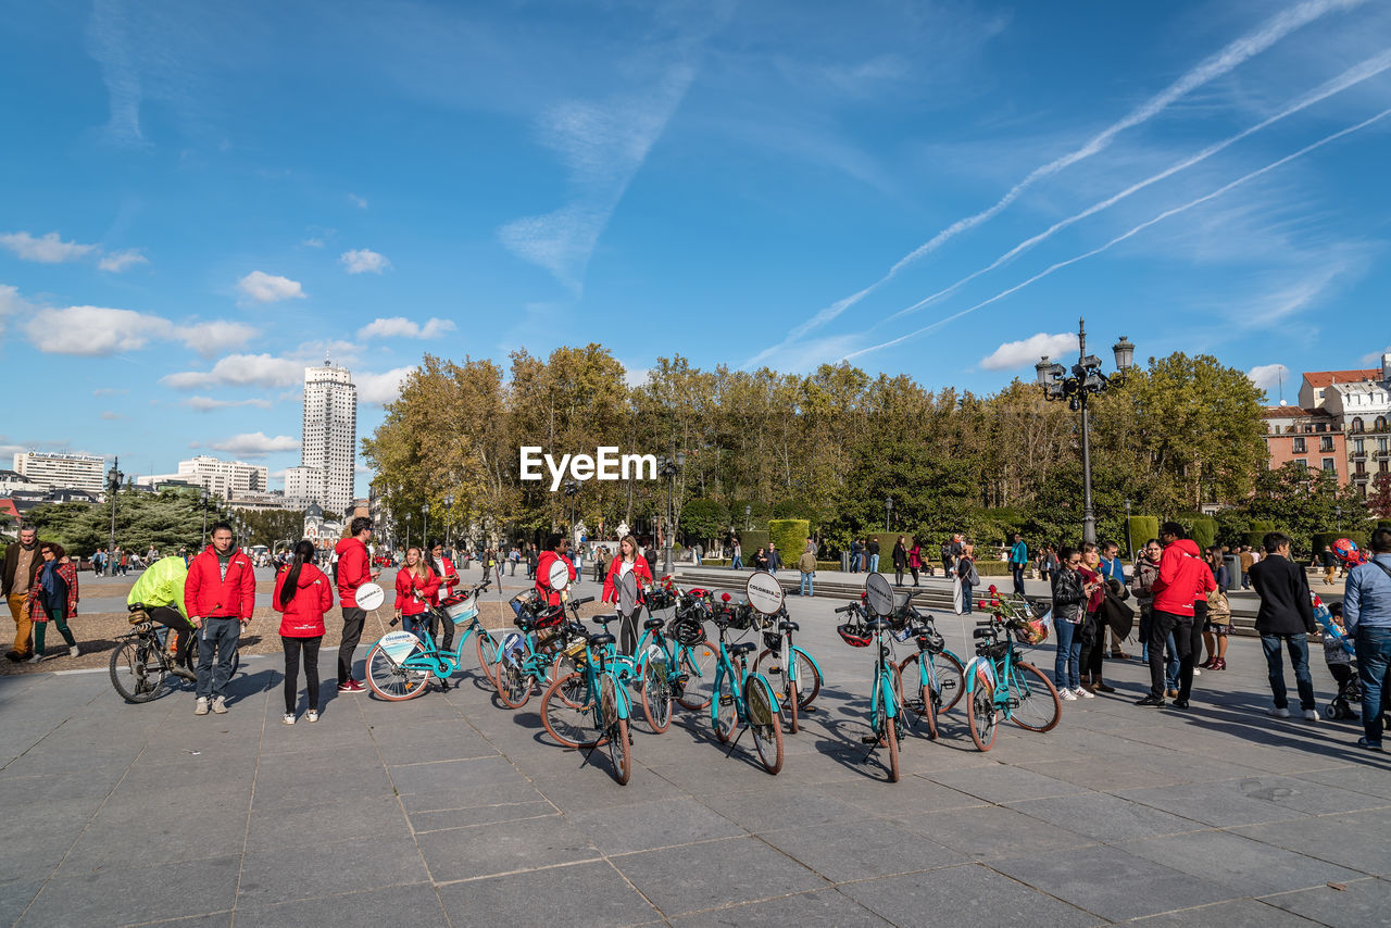
<instances>
[{"instance_id":1,"label":"person in blue denim shirt and jeans at right edge","mask_svg":"<svg viewBox=\"0 0 1391 928\"><path fill-rule=\"evenodd\" d=\"M1372 561L1348 572L1342 621L1358 650L1362 682L1362 737L1358 747L1381 750L1383 700L1391 665L1391 529L1372 533Z\"/></svg>"}]
</instances>

